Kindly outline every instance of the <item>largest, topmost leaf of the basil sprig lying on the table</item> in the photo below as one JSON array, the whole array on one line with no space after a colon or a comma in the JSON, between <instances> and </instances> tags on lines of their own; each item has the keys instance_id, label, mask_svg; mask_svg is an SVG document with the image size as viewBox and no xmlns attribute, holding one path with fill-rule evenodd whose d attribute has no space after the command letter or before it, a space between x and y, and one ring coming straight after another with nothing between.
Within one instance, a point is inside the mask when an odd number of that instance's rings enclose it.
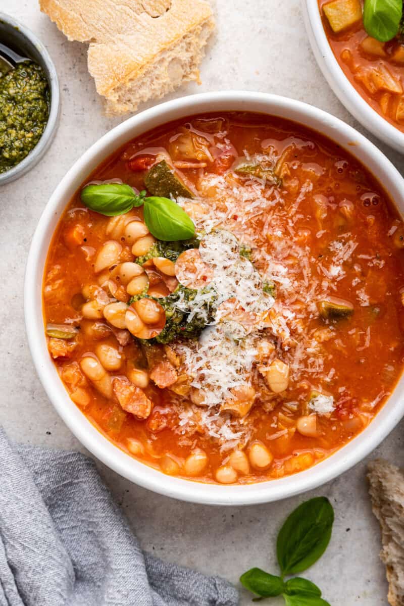
<instances>
[{"instance_id":1,"label":"largest, topmost leaf of the basil sprig lying on the table","mask_svg":"<svg viewBox=\"0 0 404 606\"><path fill-rule=\"evenodd\" d=\"M333 529L334 510L325 497L297 507L279 531L276 552L282 574L297 574L324 553Z\"/></svg>"}]
</instances>

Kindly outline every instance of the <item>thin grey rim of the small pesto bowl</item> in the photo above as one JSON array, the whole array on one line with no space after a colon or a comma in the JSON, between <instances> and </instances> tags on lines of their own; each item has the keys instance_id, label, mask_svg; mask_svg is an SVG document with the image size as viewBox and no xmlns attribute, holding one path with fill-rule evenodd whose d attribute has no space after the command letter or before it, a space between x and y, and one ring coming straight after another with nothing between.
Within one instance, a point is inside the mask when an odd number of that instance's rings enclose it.
<instances>
[{"instance_id":1,"label":"thin grey rim of the small pesto bowl","mask_svg":"<svg viewBox=\"0 0 404 606\"><path fill-rule=\"evenodd\" d=\"M33 168L37 162L39 162L42 156L44 156L51 144L53 137L55 136L56 128L58 127L61 99L58 73L56 72L55 64L50 58L50 55L44 44L42 44L41 40L39 40L39 38L37 38L37 36L31 32L28 27L6 13L0 12L0 22L3 22L5 25L9 25L10 29L12 28L18 30L19 35L22 35L25 38L27 44L31 47L35 47L36 52L41 55L44 61L44 72L50 88L49 115L44 132L41 135L41 139L39 139L35 147L21 162L9 170L6 170L4 173L0 173L0 185L3 185L5 183L9 183L10 181L14 181L22 175L25 175L25 173L27 173L28 170L31 170L31 168Z\"/></svg>"}]
</instances>

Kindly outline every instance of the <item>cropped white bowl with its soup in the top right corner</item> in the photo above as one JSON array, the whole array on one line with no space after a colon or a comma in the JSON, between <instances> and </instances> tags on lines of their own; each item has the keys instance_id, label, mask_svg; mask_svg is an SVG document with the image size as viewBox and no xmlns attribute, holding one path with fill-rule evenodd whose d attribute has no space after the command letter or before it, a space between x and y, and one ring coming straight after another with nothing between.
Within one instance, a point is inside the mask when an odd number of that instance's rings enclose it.
<instances>
[{"instance_id":1,"label":"cropped white bowl with its soup in the top right corner","mask_svg":"<svg viewBox=\"0 0 404 606\"><path fill-rule=\"evenodd\" d=\"M368 4L369 11L375 11L371 21L378 22L378 7ZM402 151L402 25L385 37L374 24L366 31L363 5L362 0L306 0L306 30L319 67L340 101L365 128Z\"/></svg>"}]
</instances>

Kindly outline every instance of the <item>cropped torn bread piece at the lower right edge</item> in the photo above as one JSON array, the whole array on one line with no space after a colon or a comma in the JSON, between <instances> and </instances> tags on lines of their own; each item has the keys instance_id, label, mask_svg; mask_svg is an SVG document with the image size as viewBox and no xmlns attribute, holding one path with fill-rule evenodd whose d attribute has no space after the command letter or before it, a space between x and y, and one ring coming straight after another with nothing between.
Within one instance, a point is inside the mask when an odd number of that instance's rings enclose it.
<instances>
[{"instance_id":1,"label":"cropped torn bread piece at the lower right edge","mask_svg":"<svg viewBox=\"0 0 404 606\"><path fill-rule=\"evenodd\" d=\"M383 459L368 466L372 510L382 528L380 559L386 565L391 606L404 605L404 476Z\"/></svg>"}]
</instances>

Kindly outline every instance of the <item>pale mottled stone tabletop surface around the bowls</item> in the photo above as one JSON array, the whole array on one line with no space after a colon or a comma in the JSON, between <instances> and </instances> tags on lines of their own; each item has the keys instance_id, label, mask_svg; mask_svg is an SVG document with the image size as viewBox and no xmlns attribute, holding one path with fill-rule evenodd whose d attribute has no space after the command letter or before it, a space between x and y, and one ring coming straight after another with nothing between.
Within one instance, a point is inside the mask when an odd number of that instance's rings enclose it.
<instances>
[{"instance_id":1,"label":"pale mottled stone tabletop surface around the bowls","mask_svg":"<svg viewBox=\"0 0 404 606\"><path fill-rule=\"evenodd\" d=\"M317 105L364 132L317 67L300 0L217 3L217 33L202 64L202 85L186 85L172 98L231 88L278 93ZM119 120L102 113L87 73L85 45L68 42L33 0L1 0L0 10L24 22L47 45L62 93L61 123L47 156L0 191L0 422L15 440L83 450L53 410L31 361L22 313L24 268L31 236L51 191L71 164ZM374 141L403 168L398 153ZM374 454L403 464L403 428L402 423ZM331 499L336 523L326 554L308 577L320 585L333 606L387 604L385 573L378 558L379 528L366 493L365 463L313 493ZM102 464L98 467L142 547L205 573L222 574L234 583L253 566L276 573L274 545L279 525L288 511L313 496L254 507L201 507L153 494ZM251 604L247 592L242 592L241 603ZM281 601L272 603L276 606Z\"/></svg>"}]
</instances>

